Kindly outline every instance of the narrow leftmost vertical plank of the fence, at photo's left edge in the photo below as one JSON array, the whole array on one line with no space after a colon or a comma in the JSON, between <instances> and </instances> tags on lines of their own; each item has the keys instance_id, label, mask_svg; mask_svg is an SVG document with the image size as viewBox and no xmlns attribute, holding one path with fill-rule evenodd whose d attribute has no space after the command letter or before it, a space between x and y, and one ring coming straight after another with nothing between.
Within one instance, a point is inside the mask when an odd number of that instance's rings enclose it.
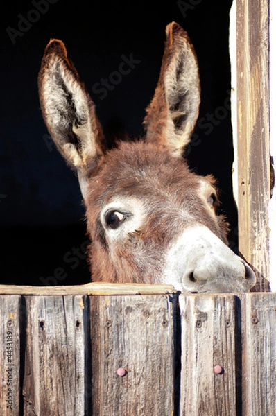
<instances>
[{"instance_id":1,"label":"narrow leftmost vertical plank of the fence, at photo's left edge","mask_svg":"<svg viewBox=\"0 0 276 416\"><path fill-rule=\"evenodd\" d=\"M0 296L0 415L20 414L20 321L19 295Z\"/></svg>"}]
</instances>

